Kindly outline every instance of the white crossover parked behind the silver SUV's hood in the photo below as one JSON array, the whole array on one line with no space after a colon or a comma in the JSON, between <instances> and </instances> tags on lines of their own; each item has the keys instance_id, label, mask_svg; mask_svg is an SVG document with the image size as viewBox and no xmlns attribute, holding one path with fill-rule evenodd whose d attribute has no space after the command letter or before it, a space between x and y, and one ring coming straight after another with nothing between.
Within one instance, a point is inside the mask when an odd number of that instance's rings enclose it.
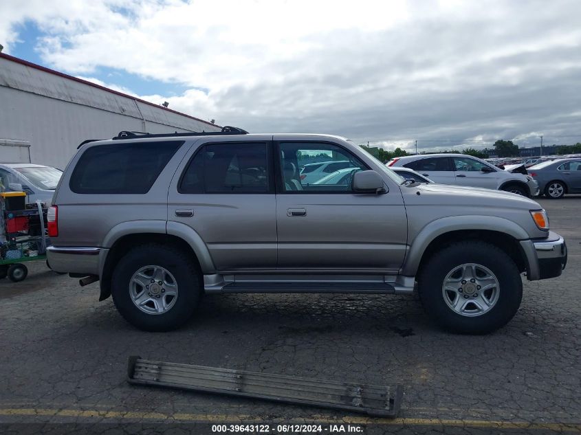
<instances>
[{"instance_id":1,"label":"white crossover parked behind the silver SUV's hood","mask_svg":"<svg viewBox=\"0 0 581 435\"><path fill-rule=\"evenodd\" d=\"M524 197L538 194L536 181L528 175L507 172L477 157L465 154L427 154L396 157L388 166L410 168L439 184L505 190Z\"/></svg>"}]
</instances>

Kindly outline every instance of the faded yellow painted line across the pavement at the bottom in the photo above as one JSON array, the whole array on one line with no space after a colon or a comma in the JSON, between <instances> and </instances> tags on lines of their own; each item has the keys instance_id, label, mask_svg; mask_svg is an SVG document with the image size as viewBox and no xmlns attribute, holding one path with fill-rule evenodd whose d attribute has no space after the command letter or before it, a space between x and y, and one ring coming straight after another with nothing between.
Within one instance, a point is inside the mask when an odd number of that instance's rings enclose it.
<instances>
[{"instance_id":1,"label":"faded yellow painted line across the pavement at the bottom","mask_svg":"<svg viewBox=\"0 0 581 435\"><path fill-rule=\"evenodd\" d=\"M141 419L164 420L175 422L195 421L197 423L217 422L263 422L265 419L250 415L228 414L162 414L160 412L124 412L124 411L99 411L99 410L51 410L36 408L0 408L3 416L51 416L51 417L98 417L100 419ZM339 419L331 419L325 416L316 416L311 419L274 419L285 423L344 423L352 425L419 425L419 426L463 426L485 427L493 429L529 429L529 430L553 430L560 432L574 432L581 434L580 423L527 423L525 421L485 421L485 420L459 420L459 419L372 419L369 417L344 416Z\"/></svg>"}]
</instances>

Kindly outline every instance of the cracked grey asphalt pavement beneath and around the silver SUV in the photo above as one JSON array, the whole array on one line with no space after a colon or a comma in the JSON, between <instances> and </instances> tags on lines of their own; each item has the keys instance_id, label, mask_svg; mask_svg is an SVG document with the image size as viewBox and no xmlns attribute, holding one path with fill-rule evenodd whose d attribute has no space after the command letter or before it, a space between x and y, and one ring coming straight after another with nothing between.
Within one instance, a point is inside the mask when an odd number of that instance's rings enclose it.
<instances>
[{"instance_id":1,"label":"cracked grey asphalt pavement beneath and around the silver SUV","mask_svg":"<svg viewBox=\"0 0 581 435\"><path fill-rule=\"evenodd\" d=\"M79 287L78 280L58 276L42 262L28 263L25 281L0 282L0 423L6 433L22 423L160 421L335 421L362 425L369 434L479 434L491 428L580 433L581 196L539 202L551 229L567 241L567 269L551 280L523 278L520 310L505 328L485 336L440 331L415 295L341 294L211 295L179 331L145 333L122 319L111 298L98 302L98 284ZM335 381L402 383L404 401L399 419L381 421L131 386L129 355ZM164 430L154 426L152 433L157 432Z\"/></svg>"}]
</instances>

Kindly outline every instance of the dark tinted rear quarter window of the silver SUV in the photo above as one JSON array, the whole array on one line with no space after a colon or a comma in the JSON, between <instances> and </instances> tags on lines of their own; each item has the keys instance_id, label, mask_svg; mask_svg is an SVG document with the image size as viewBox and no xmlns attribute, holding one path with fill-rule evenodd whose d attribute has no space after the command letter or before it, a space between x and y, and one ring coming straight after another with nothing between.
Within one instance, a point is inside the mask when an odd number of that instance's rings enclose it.
<instances>
[{"instance_id":1,"label":"dark tinted rear quarter window of the silver SUV","mask_svg":"<svg viewBox=\"0 0 581 435\"><path fill-rule=\"evenodd\" d=\"M89 148L71 175L72 192L144 194L184 142L137 142Z\"/></svg>"}]
</instances>

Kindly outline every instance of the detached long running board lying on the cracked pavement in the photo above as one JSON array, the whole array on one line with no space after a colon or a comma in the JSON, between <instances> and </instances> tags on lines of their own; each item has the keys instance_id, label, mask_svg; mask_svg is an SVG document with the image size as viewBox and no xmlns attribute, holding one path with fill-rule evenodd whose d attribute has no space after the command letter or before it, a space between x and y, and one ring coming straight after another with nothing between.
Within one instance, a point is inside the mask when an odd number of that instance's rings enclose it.
<instances>
[{"instance_id":1,"label":"detached long running board lying on the cracked pavement","mask_svg":"<svg viewBox=\"0 0 581 435\"><path fill-rule=\"evenodd\" d=\"M403 396L401 385L371 386L319 381L227 368L148 361L140 357L129 357L127 376L129 383L133 384L254 397L388 418L395 418L401 408Z\"/></svg>"}]
</instances>

